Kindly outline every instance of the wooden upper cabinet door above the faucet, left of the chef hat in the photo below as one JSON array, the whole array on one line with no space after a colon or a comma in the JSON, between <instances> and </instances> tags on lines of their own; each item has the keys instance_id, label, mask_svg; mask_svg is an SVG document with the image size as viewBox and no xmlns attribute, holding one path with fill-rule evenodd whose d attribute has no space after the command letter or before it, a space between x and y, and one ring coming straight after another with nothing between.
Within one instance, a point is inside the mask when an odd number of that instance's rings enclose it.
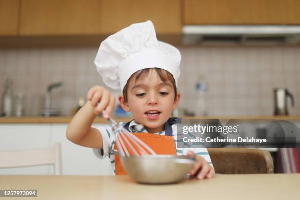
<instances>
[{"instance_id":1,"label":"wooden upper cabinet door above the faucet, left of the chef hat","mask_svg":"<svg viewBox=\"0 0 300 200\"><path fill-rule=\"evenodd\" d=\"M21 0L20 35L99 33L100 0Z\"/></svg>"}]
</instances>

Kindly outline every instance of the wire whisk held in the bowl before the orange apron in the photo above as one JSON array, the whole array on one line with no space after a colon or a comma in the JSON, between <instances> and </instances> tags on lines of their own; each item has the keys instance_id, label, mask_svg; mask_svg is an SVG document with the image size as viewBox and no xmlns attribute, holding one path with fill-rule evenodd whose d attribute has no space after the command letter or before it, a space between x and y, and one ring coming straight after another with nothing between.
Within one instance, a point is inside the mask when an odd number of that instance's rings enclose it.
<instances>
[{"instance_id":1,"label":"wire whisk held in the bowl before the orange apron","mask_svg":"<svg viewBox=\"0 0 300 200\"><path fill-rule=\"evenodd\" d=\"M102 112L102 114L104 111ZM121 156L129 157L132 155L156 155L156 153L141 139L126 130L124 127L113 120L108 118L110 126L116 134L116 144Z\"/></svg>"}]
</instances>

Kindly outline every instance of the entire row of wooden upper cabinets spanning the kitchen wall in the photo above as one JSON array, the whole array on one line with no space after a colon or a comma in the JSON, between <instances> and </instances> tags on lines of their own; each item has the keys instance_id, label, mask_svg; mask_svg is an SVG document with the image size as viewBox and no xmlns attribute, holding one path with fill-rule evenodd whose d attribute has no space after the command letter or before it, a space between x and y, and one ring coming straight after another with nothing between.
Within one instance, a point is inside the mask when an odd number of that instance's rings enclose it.
<instances>
[{"instance_id":1,"label":"entire row of wooden upper cabinets spanning the kitchen wall","mask_svg":"<svg viewBox=\"0 0 300 200\"><path fill-rule=\"evenodd\" d=\"M182 25L300 25L300 0L0 0L0 35L103 36L151 20L156 33Z\"/></svg>"}]
</instances>

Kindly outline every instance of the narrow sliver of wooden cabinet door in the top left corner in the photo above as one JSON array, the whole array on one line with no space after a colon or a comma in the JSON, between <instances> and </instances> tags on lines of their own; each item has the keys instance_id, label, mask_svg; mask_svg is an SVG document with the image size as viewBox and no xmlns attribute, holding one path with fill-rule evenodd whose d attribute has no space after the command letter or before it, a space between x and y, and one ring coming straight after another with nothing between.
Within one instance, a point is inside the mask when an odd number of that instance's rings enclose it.
<instances>
[{"instance_id":1,"label":"narrow sliver of wooden cabinet door in the top left corner","mask_svg":"<svg viewBox=\"0 0 300 200\"><path fill-rule=\"evenodd\" d=\"M0 0L0 35L17 35L19 0Z\"/></svg>"}]
</instances>

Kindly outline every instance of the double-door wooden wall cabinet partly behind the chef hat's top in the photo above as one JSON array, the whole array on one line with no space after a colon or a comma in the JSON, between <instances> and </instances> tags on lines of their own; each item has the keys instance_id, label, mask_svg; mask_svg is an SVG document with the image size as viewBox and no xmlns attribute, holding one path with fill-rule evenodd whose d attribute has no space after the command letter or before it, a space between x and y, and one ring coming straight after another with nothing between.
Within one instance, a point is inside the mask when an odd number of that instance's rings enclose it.
<instances>
[{"instance_id":1,"label":"double-door wooden wall cabinet partly behind the chef hat's top","mask_svg":"<svg viewBox=\"0 0 300 200\"><path fill-rule=\"evenodd\" d=\"M21 0L20 35L111 34L151 20L156 32L181 33L180 0Z\"/></svg>"}]
</instances>

